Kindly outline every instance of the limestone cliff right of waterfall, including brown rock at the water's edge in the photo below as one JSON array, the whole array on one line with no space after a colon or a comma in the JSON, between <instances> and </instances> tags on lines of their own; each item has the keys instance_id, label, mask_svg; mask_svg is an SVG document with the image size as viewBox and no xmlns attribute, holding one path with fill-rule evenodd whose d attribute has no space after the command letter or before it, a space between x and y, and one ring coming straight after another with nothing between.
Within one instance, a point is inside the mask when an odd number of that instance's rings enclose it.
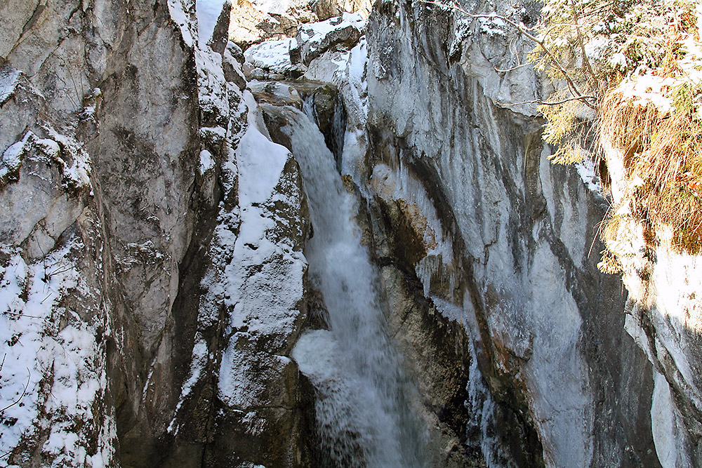
<instances>
[{"instance_id":1,"label":"limestone cliff right of waterfall, including brown rock at the water's edge","mask_svg":"<svg viewBox=\"0 0 702 468\"><path fill-rule=\"evenodd\" d=\"M513 13L529 22L538 6ZM298 55L279 44L247 60L280 76ZM588 168L549 163L520 104L541 81L514 67L515 47L489 18L386 1L357 46L302 71L343 95L338 167L366 199L389 325L437 429L432 462L655 466L651 365L624 330L621 283L589 255L607 203Z\"/></svg>"}]
</instances>

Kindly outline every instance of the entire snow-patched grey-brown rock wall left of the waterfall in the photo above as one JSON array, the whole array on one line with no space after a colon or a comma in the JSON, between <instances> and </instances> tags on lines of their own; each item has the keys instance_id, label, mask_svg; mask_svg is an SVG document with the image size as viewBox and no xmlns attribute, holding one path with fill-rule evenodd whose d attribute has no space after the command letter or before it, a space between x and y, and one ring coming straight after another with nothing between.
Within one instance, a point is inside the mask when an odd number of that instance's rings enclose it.
<instances>
[{"instance_id":1,"label":"entire snow-patched grey-brown rock wall left of the waterfall","mask_svg":"<svg viewBox=\"0 0 702 468\"><path fill-rule=\"evenodd\" d=\"M309 465L305 196L207 6L0 6L3 466Z\"/></svg>"}]
</instances>

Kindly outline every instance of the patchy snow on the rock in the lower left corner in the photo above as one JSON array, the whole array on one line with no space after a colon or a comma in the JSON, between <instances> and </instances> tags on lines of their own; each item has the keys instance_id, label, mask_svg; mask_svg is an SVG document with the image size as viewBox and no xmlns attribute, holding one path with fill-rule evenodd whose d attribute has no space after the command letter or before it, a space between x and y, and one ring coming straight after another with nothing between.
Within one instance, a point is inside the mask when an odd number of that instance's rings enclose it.
<instances>
[{"instance_id":1,"label":"patchy snow on the rock in the lower left corner","mask_svg":"<svg viewBox=\"0 0 702 468\"><path fill-rule=\"evenodd\" d=\"M0 246L0 446L44 440L57 467L108 466L114 455L114 420L101 407L107 324L69 305L90 294L73 260L83 248L74 237L27 263L19 249ZM0 467L12 461L0 457Z\"/></svg>"}]
</instances>

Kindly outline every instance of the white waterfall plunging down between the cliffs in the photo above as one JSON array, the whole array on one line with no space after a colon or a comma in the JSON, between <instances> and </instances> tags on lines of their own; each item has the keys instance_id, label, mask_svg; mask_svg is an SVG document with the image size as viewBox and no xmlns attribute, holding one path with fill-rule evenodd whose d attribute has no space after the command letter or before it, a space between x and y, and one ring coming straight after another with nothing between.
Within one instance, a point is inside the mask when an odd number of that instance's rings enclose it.
<instances>
[{"instance_id":1,"label":"white waterfall plunging down between the cliffs","mask_svg":"<svg viewBox=\"0 0 702 468\"><path fill-rule=\"evenodd\" d=\"M355 199L336 171L317 126L282 109L310 204L314 235L305 256L322 292L329 330L304 333L293 349L317 389L316 414L327 464L423 467L423 435L403 392L401 362L385 333L378 274L354 221Z\"/></svg>"}]
</instances>

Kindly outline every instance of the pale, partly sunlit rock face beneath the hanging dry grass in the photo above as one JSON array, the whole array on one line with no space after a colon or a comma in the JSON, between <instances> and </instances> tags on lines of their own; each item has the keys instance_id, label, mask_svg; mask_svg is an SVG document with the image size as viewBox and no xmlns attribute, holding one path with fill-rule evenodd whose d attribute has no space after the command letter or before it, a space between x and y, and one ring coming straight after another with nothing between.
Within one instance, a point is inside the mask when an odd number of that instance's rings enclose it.
<instances>
[{"instance_id":1,"label":"pale, partly sunlit rock face beneath the hanging dry grass","mask_svg":"<svg viewBox=\"0 0 702 468\"><path fill-rule=\"evenodd\" d=\"M614 203L625 187L623 155L607 152ZM617 170L619 168L619 170ZM702 366L699 348L702 291L699 255L671 247L672 233L658 245L632 218L624 218L607 242L616 248L629 291L625 328L654 368L651 426L658 460L664 467L698 467L702 452Z\"/></svg>"}]
</instances>

